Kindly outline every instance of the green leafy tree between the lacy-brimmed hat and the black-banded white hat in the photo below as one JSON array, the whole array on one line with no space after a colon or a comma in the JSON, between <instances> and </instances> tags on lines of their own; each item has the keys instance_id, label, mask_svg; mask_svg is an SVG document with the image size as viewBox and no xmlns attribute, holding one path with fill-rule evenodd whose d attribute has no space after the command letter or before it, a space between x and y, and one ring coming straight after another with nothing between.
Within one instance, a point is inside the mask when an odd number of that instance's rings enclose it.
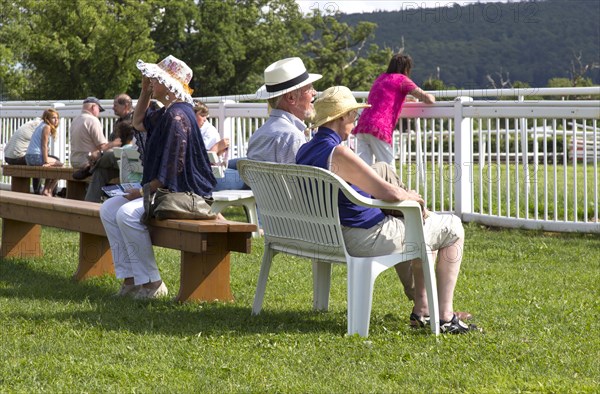
<instances>
[{"instance_id":1,"label":"green leafy tree between the lacy-brimmed hat and the black-banded white hat","mask_svg":"<svg viewBox=\"0 0 600 394\"><path fill-rule=\"evenodd\" d=\"M300 55L304 20L293 0L200 1L198 11L193 50L182 56L197 96L253 93L269 64Z\"/></svg>"}]
</instances>

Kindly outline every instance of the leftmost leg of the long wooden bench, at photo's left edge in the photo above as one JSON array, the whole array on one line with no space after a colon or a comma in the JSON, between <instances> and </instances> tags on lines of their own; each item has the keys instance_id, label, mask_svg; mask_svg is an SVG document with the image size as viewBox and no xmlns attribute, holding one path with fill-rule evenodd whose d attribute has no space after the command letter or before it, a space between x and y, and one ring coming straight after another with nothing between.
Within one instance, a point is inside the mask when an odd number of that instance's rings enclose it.
<instances>
[{"instance_id":1,"label":"leftmost leg of the long wooden bench, at photo's left edge","mask_svg":"<svg viewBox=\"0 0 600 394\"><path fill-rule=\"evenodd\" d=\"M2 219L0 257L41 257L41 236L42 226L39 224Z\"/></svg>"}]
</instances>

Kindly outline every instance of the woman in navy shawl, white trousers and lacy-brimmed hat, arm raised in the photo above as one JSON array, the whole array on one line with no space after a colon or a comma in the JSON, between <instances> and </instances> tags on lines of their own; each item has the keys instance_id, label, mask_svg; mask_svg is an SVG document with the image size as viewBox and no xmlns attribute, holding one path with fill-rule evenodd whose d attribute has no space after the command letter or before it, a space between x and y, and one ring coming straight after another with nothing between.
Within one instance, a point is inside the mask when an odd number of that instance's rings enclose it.
<instances>
[{"instance_id":1,"label":"woman in navy shawl, white trousers and lacy-brimmed hat, arm raised","mask_svg":"<svg viewBox=\"0 0 600 394\"><path fill-rule=\"evenodd\" d=\"M202 134L192 108L192 70L168 56L158 64L138 60L142 91L135 107L133 125L148 133L144 150L143 189L109 198L100 217L111 246L115 273L123 279L117 295L156 298L168 293L158 271L148 228L140 223L144 214L143 193L166 188L210 196L216 184ZM150 99L163 104L149 108Z\"/></svg>"}]
</instances>

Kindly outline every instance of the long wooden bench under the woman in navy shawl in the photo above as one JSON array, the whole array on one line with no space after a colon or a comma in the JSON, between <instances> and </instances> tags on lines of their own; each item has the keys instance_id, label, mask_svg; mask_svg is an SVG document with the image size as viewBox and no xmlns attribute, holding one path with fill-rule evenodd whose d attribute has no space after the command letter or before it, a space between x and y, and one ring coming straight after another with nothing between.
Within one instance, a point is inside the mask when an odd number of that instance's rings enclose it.
<instances>
[{"instance_id":1,"label":"long wooden bench under the woman in navy shawl","mask_svg":"<svg viewBox=\"0 0 600 394\"><path fill-rule=\"evenodd\" d=\"M79 232L74 279L114 274L110 246L100 220L101 204L0 192L0 258L42 256L41 225ZM232 301L230 252L250 253L256 226L227 220L154 220L152 244L181 251L178 301Z\"/></svg>"}]
</instances>

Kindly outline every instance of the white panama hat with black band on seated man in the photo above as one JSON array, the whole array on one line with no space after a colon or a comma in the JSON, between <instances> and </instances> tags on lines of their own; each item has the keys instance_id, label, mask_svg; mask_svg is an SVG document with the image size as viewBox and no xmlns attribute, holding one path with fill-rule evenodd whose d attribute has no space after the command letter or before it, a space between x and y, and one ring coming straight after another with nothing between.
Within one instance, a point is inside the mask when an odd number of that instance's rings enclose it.
<instances>
[{"instance_id":1,"label":"white panama hat with black band on seated man","mask_svg":"<svg viewBox=\"0 0 600 394\"><path fill-rule=\"evenodd\" d=\"M281 96L321 79L321 74L309 74L302 59L290 57L265 68L265 84L256 91L260 100Z\"/></svg>"}]
</instances>

